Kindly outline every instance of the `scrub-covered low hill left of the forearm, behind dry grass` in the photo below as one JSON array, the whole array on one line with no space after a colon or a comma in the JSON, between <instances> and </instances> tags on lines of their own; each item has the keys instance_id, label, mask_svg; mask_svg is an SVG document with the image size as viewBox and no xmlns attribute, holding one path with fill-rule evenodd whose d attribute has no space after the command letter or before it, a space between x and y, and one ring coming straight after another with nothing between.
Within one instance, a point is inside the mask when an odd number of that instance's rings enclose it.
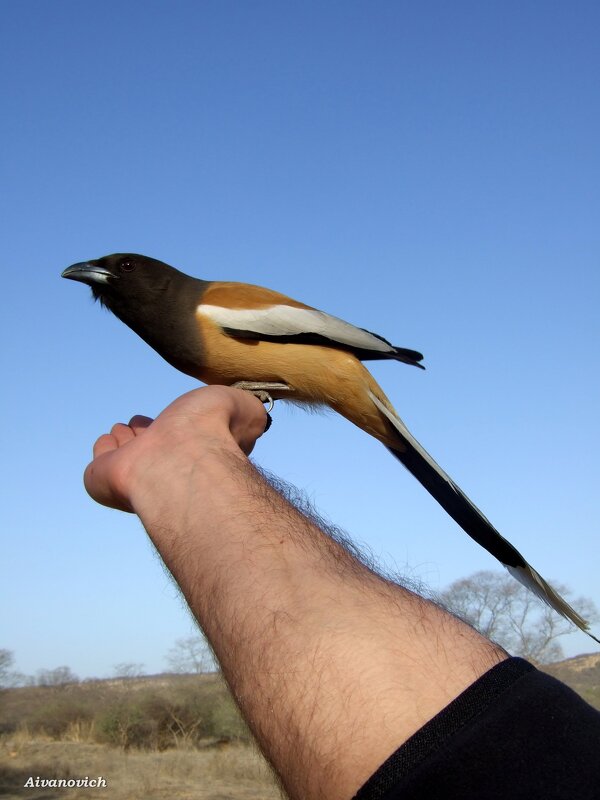
<instances>
[{"instance_id":1,"label":"scrub-covered low hill left of the forearm, behind dry grass","mask_svg":"<svg viewBox=\"0 0 600 800\"><path fill-rule=\"evenodd\" d=\"M164 750L182 742L205 746L251 738L217 673L109 678L0 691L0 734L27 729L59 740L83 728L93 741L124 749Z\"/></svg>"}]
</instances>

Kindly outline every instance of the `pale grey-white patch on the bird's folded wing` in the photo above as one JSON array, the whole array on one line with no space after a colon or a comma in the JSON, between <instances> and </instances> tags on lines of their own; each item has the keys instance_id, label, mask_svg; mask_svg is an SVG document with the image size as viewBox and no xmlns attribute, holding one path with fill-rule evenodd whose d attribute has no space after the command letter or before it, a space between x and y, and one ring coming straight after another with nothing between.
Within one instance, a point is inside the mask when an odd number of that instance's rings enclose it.
<instances>
[{"instance_id":1,"label":"pale grey-white patch on the bird's folded wing","mask_svg":"<svg viewBox=\"0 0 600 800\"><path fill-rule=\"evenodd\" d=\"M222 328L251 331L264 336L297 336L314 333L334 342L362 350L393 353L394 348L362 328L356 328L323 311L277 305L268 308L224 308L202 303L197 314L208 317Z\"/></svg>"}]
</instances>

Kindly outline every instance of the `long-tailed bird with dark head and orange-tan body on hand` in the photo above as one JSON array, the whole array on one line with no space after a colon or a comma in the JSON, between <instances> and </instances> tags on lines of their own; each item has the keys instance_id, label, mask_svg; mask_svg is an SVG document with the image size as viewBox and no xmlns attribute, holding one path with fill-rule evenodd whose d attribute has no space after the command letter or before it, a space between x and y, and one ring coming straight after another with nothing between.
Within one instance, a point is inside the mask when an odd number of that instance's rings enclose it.
<instances>
[{"instance_id":1,"label":"long-tailed bird with dark head and orange-tan body on hand","mask_svg":"<svg viewBox=\"0 0 600 800\"><path fill-rule=\"evenodd\" d=\"M136 253L67 267L95 300L169 364L206 384L275 400L328 406L381 442L481 547L555 611L589 623L524 559L408 430L363 362L424 369L423 355L284 294L252 284L194 278Z\"/></svg>"}]
</instances>

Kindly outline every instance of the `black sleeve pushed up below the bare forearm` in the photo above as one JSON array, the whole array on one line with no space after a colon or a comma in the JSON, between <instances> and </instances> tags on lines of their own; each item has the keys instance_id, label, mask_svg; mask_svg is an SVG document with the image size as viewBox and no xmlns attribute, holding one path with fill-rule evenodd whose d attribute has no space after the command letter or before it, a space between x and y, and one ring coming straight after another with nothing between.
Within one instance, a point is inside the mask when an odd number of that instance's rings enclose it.
<instances>
[{"instance_id":1,"label":"black sleeve pushed up below the bare forearm","mask_svg":"<svg viewBox=\"0 0 600 800\"><path fill-rule=\"evenodd\" d=\"M600 800L600 713L510 658L411 736L354 800Z\"/></svg>"}]
</instances>

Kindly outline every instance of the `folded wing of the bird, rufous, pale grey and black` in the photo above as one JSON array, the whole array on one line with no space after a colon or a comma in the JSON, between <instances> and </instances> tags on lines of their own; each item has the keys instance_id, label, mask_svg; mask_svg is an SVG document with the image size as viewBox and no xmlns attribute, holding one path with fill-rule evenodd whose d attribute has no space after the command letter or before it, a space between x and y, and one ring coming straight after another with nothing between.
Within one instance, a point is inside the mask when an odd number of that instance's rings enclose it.
<instances>
[{"instance_id":1,"label":"folded wing of the bird, rufous, pale grey and black","mask_svg":"<svg viewBox=\"0 0 600 800\"><path fill-rule=\"evenodd\" d=\"M414 350L396 348L364 328L259 286L211 284L202 296L198 314L211 319L227 335L242 339L341 346L363 359L397 358L399 351L411 361L423 357Z\"/></svg>"}]
</instances>

